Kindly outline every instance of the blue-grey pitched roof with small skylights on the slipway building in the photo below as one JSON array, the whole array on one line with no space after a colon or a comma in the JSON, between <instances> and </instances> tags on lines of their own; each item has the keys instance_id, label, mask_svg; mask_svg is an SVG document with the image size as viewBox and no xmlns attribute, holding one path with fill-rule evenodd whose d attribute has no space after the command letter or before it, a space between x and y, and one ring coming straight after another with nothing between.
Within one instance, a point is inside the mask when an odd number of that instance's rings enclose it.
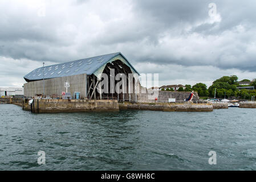
<instances>
[{"instance_id":1,"label":"blue-grey pitched roof with small skylights on the slipway building","mask_svg":"<svg viewBox=\"0 0 256 182\"><path fill-rule=\"evenodd\" d=\"M108 55L101 55L95 57L89 57L86 59L80 59L76 61L69 61L61 64L54 64L46 67L40 67L34 69L29 74L25 75L24 78L26 81L36 81L49 78L63 77L63 76L72 76L80 75L86 73L87 75L92 75L102 67L104 64L108 63L109 60L113 57L122 56L125 61L127 61L128 66L133 69L136 73L135 68L129 63L129 61L124 57L121 52L110 53ZM44 73L44 77L43 77ZM138 73L139 74L139 73Z\"/></svg>"}]
</instances>

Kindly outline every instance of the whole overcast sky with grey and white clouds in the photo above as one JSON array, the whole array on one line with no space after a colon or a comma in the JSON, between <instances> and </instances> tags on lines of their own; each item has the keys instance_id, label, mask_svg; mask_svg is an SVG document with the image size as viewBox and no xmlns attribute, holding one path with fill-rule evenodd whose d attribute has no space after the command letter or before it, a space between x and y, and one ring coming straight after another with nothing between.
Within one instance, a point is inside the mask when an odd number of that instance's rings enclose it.
<instances>
[{"instance_id":1,"label":"whole overcast sky with grey and white clouds","mask_svg":"<svg viewBox=\"0 0 256 182\"><path fill-rule=\"evenodd\" d=\"M160 86L253 79L255 10L253 0L1 0L0 86L22 86L43 61L119 51L140 73L159 73Z\"/></svg>"}]
</instances>

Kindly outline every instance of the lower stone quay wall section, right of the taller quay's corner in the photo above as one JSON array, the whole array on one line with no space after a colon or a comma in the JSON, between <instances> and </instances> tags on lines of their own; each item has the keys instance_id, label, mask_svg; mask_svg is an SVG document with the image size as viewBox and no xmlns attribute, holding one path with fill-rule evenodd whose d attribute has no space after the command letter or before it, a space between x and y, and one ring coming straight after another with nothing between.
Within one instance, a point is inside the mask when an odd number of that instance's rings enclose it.
<instances>
[{"instance_id":1,"label":"lower stone quay wall section, right of the taller quay's corner","mask_svg":"<svg viewBox=\"0 0 256 182\"><path fill-rule=\"evenodd\" d=\"M136 110L159 110L159 111L186 111L186 112L209 112L213 111L211 104L193 104L192 102L185 102L183 104L177 103L136 103L129 102L119 103L120 110L136 109Z\"/></svg>"}]
</instances>

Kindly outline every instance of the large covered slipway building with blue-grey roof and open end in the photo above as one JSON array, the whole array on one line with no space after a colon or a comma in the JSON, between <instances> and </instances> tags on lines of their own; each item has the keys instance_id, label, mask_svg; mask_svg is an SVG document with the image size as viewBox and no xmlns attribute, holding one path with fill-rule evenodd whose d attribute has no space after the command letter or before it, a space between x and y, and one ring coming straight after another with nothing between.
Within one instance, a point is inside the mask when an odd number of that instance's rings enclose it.
<instances>
[{"instance_id":1,"label":"large covered slipway building with blue-grey roof and open end","mask_svg":"<svg viewBox=\"0 0 256 182\"><path fill-rule=\"evenodd\" d=\"M110 78L110 69L115 69L115 76L117 73L124 73L127 77L128 89L128 74L139 73L129 63L125 56L120 53L111 53L108 55L101 55L96 57L89 57L76 61L70 61L62 64L55 64L46 67L34 69L26 76L27 81L24 84L24 96L34 97L36 95L52 96L58 98L65 92L64 83L66 80L70 82L68 92L71 95L74 92L80 92L82 99L104 99L105 97L119 98L119 100L136 100L136 86L139 86L139 81L135 86L135 79L132 80L133 90L132 94L128 92L123 94L110 93L110 82L108 85L108 93L97 92L97 85L100 83L99 76L101 73L106 73ZM103 78L102 78L103 80ZM115 81L115 85L118 81ZM136 88L135 88L136 87ZM44 89L43 89L44 88ZM102 88L101 86L99 88Z\"/></svg>"}]
</instances>

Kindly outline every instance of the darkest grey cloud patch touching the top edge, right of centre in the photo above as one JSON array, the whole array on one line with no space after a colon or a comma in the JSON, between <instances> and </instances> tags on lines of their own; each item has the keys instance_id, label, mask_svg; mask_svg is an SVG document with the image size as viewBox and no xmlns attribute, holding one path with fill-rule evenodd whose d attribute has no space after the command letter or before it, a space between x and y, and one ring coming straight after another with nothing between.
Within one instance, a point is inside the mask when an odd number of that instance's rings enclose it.
<instances>
[{"instance_id":1,"label":"darkest grey cloud patch touching the top edge, right of centre","mask_svg":"<svg viewBox=\"0 0 256 182\"><path fill-rule=\"evenodd\" d=\"M162 22L166 27L175 26L177 23L193 23L208 14L208 4L212 1L134 1L136 13L157 22Z\"/></svg>"}]
</instances>

